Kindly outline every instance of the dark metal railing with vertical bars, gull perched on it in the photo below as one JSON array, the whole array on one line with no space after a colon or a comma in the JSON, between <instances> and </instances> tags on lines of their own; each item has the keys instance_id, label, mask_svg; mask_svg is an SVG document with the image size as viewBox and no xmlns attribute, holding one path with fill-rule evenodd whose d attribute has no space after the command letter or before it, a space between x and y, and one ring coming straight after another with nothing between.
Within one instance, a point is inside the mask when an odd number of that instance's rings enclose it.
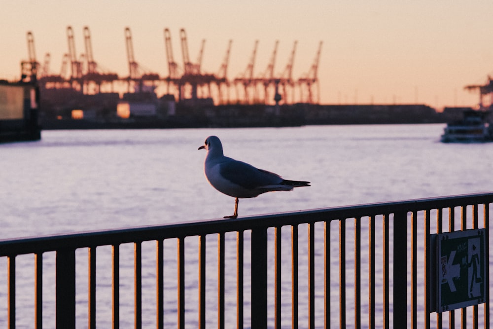
<instances>
[{"instance_id":1,"label":"dark metal railing with vertical bars, gull perched on it","mask_svg":"<svg viewBox=\"0 0 493 329\"><path fill-rule=\"evenodd\" d=\"M122 297L120 246L133 244L133 324L135 328L141 328L142 305L148 307L149 304L149 301L142 301L142 278L146 275L142 273L142 243L155 241L153 277L156 292L153 307L157 328L165 327L164 319L169 314L175 314L178 328L184 328L186 318L192 316L197 319L199 328L205 328L206 302L210 303L212 297L217 302L218 328L232 328L234 325L244 328L245 323L245 326L255 329L268 326L285 328L286 324L291 328L329 328L331 324L340 328L349 325L355 328L390 328L391 321L393 328L418 328L422 324L424 328L430 328L435 326L432 316L436 316L437 328L443 325L454 328L456 317L462 328L477 328L480 323L484 328L489 328L489 287L485 303L463 308L460 315L455 311L430 313L428 256L431 228L436 229L437 233L454 231L460 223L461 230L480 225L489 232L492 203L493 193L473 194L3 240L0 241L0 260L6 259L7 280L6 287L0 287L0 294L5 290L7 292L6 322L8 328L15 328L16 316L17 319L20 316L16 307L19 272L16 271L16 257L33 254L34 325L37 329L42 328L43 312L46 312L46 305L43 306L43 296L46 295L46 292L43 293L43 279L46 278L43 276L48 271L48 268L43 269L43 254L56 252L56 312L51 313L56 313L57 328L75 328L75 255L77 250L87 249L87 324L89 328L96 328L96 301L98 305L101 303L101 299L96 298L99 289L96 255L100 246L110 246L110 323L113 328L119 328ZM353 227L350 227L351 224ZM300 236L304 231L307 234ZM236 234L234 271L226 270L225 262L229 258L225 256L225 234ZM211 235L217 235L217 243L206 239ZM420 239L418 236L421 236ZM188 251L185 252L185 238L189 241L190 237L197 239L198 247L198 253L193 256L196 261L192 262L193 267L196 266L194 272L198 273L196 286L193 287L198 292L198 300L193 310L185 308L185 298L189 296L186 290L192 289L185 285L185 275L190 274L185 271L190 267L185 266L185 257L191 257ZM381 241L377 242L377 238ZM177 276L174 278L165 275L168 264L163 260L165 255L169 256L165 242L170 239L176 241ZM489 246L488 237L486 241ZM283 248L286 242L290 245L288 249ZM214 296L206 294L211 289L210 285L206 285L206 256L211 257L211 253L206 252L206 245L217 245L217 289L214 289ZM284 255L285 259L282 259L283 252L291 252L290 257ZM486 253L486 259L489 259L488 250ZM338 266L331 265L331 259L337 257ZM287 273L286 267L290 268ZM363 271L368 271L368 274L363 274ZM176 282L176 306L172 309L166 308L164 302L164 285L168 281ZM230 308L231 295L235 294L235 290L226 288L226 282L232 281L236 281L236 324L229 323L231 312L225 306L228 300ZM290 298L282 298L286 296L286 292L282 292L286 286L290 290ZM335 299L337 289L338 298ZM245 291L250 293L246 294ZM290 314L286 314L286 309Z\"/></svg>"}]
</instances>

